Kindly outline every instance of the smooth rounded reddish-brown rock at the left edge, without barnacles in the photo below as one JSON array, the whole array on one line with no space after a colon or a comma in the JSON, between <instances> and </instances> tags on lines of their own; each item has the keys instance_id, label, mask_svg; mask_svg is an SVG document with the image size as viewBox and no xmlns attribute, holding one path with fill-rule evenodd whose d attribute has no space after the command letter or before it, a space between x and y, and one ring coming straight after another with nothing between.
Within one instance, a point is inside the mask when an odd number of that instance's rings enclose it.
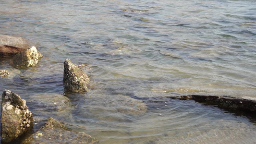
<instances>
[{"instance_id":1,"label":"smooth rounded reddish-brown rock at the left edge, without barnacles","mask_svg":"<svg viewBox=\"0 0 256 144\"><path fill-rule=\"evenodd\" d=\"M0 35L0 57L12 56L31 47L31 43L20 36Z\"/></svg>"}]
</instances>

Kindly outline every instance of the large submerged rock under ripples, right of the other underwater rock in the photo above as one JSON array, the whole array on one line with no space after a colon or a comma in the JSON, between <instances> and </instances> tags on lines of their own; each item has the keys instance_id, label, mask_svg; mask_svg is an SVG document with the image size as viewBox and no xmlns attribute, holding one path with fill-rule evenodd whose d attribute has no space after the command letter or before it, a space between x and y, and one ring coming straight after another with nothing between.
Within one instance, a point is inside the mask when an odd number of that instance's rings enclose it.
<instances>
[{"instance_id":1,"label":"large submerged rock under ripples, right of the other underwater rock","mask_svg":"<svg viewBox=\"0 0 256 144\"><path fill-rule=\"evenodd\" d=\"M104 121L133 121L134 117L143 116L147 111L146 103L142 100L134 99L130 96L104 94L86 96L88 105L78 110L80 115L86 115L86 118ZM83 111L83 109L88 109Z\"/></svg>"}]
</instances>

